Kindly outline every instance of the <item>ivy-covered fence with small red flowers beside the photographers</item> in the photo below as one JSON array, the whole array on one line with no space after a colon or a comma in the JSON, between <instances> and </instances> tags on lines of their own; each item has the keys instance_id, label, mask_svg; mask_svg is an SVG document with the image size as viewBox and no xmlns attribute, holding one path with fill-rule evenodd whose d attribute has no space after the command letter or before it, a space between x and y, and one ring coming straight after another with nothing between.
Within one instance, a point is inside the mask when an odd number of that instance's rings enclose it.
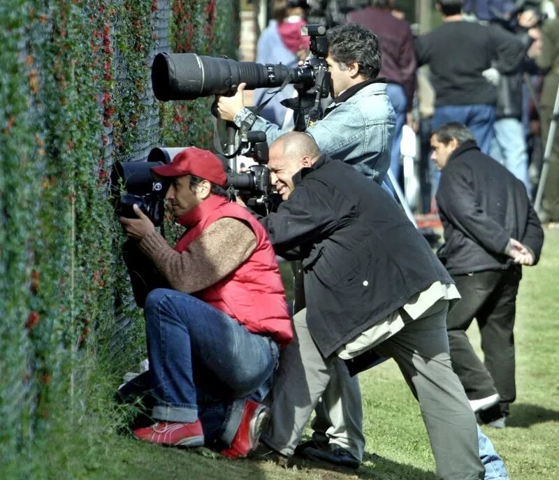
<instances>
[{"instance_id":1,"label":"ivy-covered fence with small red flowers beside the photographers","mask_svg":"<svg viewBox=\"0 0 559 480\"><path fill-rule=\"evenodd\" d=\"M150 65L235 58L238 27L231 0L0 2L0 472L75 428L99 368L143 354L110 168L210 147L211 99L156 101Z\"/></svg>"}]
</instances>

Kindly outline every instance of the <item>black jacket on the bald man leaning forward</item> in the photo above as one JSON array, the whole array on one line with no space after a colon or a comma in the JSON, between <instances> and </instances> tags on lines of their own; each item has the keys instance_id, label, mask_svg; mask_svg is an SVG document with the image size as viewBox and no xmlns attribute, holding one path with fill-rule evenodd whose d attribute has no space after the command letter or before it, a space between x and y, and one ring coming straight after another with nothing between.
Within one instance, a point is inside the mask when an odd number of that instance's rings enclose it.
<instances>
[{"instance_id":1,"label":"black jacket on the bald man leaning forward","mask_svg":"<svg viewBox=\"0 0 559 480\"><path fill-rule=\"evenodd\" d=\"M321 157L262 219L276 252L302 259L307 323L323 356L433 282L452 283L393 198L352 166Z\"/></svg>"}]
</instances>

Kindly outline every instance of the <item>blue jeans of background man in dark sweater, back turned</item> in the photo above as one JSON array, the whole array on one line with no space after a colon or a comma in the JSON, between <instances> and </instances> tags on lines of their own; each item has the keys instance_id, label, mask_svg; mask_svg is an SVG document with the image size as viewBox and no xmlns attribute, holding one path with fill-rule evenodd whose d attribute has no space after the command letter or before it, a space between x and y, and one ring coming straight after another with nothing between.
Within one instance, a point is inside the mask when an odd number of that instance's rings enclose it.
<instances>
[{"instance_id":1,"label":"blue jeans of background man in dark sweater, back turned","mask_svg":"<svg viewBox=\"0 0 559 480\"><path fill-rule=\"evenodd\" d=\"M444 105L435 107L433 130L448 122L465 124L477 141L477 146L484 154L489 154L493 138L495 107L486 104Z\"/></svg>"}]
</instances>

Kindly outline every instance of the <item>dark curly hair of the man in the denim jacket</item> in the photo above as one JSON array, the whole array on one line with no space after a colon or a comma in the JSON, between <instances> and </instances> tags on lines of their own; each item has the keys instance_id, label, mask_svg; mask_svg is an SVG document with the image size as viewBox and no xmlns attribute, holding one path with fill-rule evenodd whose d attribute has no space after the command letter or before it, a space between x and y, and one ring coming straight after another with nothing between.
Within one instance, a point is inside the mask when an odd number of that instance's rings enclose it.
<instances>
[{"instance_id":1,"label":"dark curly hair of the man in the denim jacket","mask_svg":"<svg viewBox=\"0 0 559 480\"><path fill-rule=\"evenodd\" d=\"M348 65L356 61L363 77L375 78L381 67L379 38L369 29L347 23L326 31L328 54L334 61Z\"/></svg>"}]
</instances>

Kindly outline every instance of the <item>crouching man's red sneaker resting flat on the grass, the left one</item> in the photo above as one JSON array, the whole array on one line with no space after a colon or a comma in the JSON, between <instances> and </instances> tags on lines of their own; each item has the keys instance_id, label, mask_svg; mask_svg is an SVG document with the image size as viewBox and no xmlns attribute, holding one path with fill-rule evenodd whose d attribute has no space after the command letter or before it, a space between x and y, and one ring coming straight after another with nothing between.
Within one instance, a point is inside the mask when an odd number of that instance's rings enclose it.
<instances>
[{"instance_id":1,"label":"crouching man's red sneaker resting flat on the grass, the left one","mask_svg":"<svg viewBox=\"0 0 559 480\"><path fill-rule=\"evenodd\" d=\"M150 427L134 430L134 437L161 445L203 446L202 423L157 422Z\"/></svg>"}]
</instances>

